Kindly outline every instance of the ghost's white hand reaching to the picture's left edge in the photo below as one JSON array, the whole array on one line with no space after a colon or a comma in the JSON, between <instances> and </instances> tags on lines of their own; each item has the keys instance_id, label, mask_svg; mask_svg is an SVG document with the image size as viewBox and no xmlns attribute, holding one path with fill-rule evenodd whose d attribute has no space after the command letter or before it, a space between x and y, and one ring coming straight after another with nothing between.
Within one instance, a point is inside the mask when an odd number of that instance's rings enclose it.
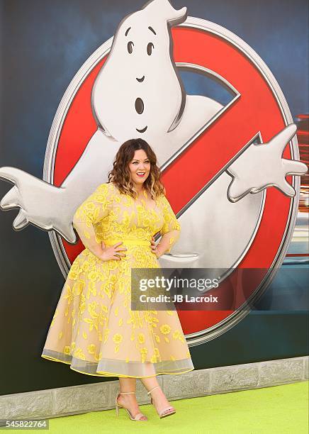
<instances>
[{"instance_id":1,"label":"ghost's white hand reaching to the picture's left edge","mask_svg":"<svg viewBox=\"0 0 309 434\"><path fill-rule=\"evenodd\" d=\"M0 202L2 210L21 208L13 228L21 230L33 223L44 230L54 229L69 243L77 237L72 226L72 213L65 189L57 188L15 167L0 167L0 178L13 182Z\"/></svg>"}]
</instances>

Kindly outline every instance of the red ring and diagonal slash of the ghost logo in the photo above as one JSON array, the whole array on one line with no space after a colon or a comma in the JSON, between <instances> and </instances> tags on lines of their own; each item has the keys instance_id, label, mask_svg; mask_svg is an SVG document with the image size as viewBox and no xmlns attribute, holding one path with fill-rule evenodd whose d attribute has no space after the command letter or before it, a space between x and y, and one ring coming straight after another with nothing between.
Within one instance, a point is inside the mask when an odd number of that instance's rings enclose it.
<instances>
[{"instance_id":1,"label":"red ring and diagonal slash of the ghost logo","mask_svg":"<svg viewBox=\"0 0 309 434\"><path fill-rule=\"evenodd\" d=\"M274 91L259 68L242 50L227 42L224 36L214 35L206 30L179 26L172 29L172 38L175 62L207 67L225 77L227 82L230 82L241 94L240 99L223 114L220 120L215 121L194 145L186 149L164 171L162 181L167 189L167 197L172 208L177 213L196 194L196 191L205 185L205 174L207 177L212 177L216 173L218 159L221 162L230 160L230 155L235 152L233 146L236 147L237 143L245 145L247 138L252 137L254 132L257 133L259 130L263 141L266 142L282 130L286 123ZM67 111L55 156L54 184L57 187L60 187L77 163L96 131L96 122L91 110L91 89L106 58L104 57L84 78ZM193 177L188 183L184 167L191 161L196 162L197 157L200 161L205 161L201 158L203 152L207 152L207 167L203 167L201 176ZM288 146L283 152L283 157L291 158ZM286 177L290 183L291 179L291 176ZM178 189L179 183L182 185L181 192ZM285 235L291 200L274 187L267 189L264 212L257 235L238 267L257 269L271 267ZM69 245L65 240L62 242L72 264L84 246L80 240L77 245ZM251 286L248 285L246 296L252 294L261 281L262 276L257 282L252 282ZM221 290L224 296L224 286ZM189 334L206 330L233 312L235 310L179 311L179 318L184 333Z\"/></svg>"}]
</instances>

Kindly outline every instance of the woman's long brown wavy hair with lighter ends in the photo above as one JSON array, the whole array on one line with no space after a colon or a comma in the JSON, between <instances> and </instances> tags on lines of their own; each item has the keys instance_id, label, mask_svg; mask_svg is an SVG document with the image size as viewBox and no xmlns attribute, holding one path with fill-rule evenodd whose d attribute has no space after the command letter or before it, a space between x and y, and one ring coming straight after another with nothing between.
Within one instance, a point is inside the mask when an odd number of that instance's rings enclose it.
<instances>
[{"instance_id":1,"label":"woman's long brown wavy hair with lighter ends","mask_svg":"<svg viewBox=\"0 0 309 434\"><path fill-rule=\"evenodd\" d=\"M157 156L150 148L150 145L142 138L127 140L120 146L113 162L113 169L108 172L108 182L113 182L120 193L128 194L134 199L137 198L137 191L131 179L129 164L134 158L135 150L139 149L144 150L150 160L150 173L143 183L143 187L149 191L150 196L155 200L158 196L165 195L165 189L160 181L161 171L157 166Z\"/></svg>"}]
</instances>

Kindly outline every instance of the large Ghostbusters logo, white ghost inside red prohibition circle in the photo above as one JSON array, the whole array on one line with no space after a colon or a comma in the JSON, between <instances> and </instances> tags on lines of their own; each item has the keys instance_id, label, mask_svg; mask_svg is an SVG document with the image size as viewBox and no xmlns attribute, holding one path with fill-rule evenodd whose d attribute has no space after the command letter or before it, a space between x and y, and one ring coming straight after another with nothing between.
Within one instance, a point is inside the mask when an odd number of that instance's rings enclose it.
<instances>
[{"instance_id":1,"label":"large Ghostbusters logo, white ghost inside red prohibition circle","mask_svg":"<svg viewBox=\"0 0 309 434\"><path fill-rule=\"evenodd\" d=\"M307 172L291 110L257 52L204 19L206 11L191 16L191 3L130 5L114 35L76 65L52 120L42 179L21 165L0 167L14 184L1 209L19 209L16 231L29 224L47 231L64 277L84 248L72 227L77 206L107 181L119 146L137 137L157 154L182 228L162 267L224 268L222 282L235 267L265 269L248 285L249 298L266 289L284 260ZM227 98L189 92L186 74ZM201 345L244 315L182 311L179 318L189 345Z\"/></svg>"}]
</instances>

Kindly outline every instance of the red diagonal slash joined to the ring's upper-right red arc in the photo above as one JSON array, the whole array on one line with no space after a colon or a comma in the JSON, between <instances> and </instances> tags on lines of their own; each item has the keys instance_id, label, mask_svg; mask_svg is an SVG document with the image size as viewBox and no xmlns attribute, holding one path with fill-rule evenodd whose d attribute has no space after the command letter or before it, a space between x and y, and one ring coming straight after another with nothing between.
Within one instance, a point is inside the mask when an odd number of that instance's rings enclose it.
<instances>
[{"instance_id":1,"label":"red diagonal slash joined to the ring's upper-right red arc","mask_svg":"<svg viewBox=\"0 0 309 434\"><path fill-rule=\"evenodd\" d=\"M207 67L240 92L240 98L162 172L168 199L178 213L254 135L261 131L266 142L285 123L266 80L242 52L202 30L179 27L172 30L172 35L175 62ZM284 156L290 157L288 148Z\"/></svg>"}]
</instances>

